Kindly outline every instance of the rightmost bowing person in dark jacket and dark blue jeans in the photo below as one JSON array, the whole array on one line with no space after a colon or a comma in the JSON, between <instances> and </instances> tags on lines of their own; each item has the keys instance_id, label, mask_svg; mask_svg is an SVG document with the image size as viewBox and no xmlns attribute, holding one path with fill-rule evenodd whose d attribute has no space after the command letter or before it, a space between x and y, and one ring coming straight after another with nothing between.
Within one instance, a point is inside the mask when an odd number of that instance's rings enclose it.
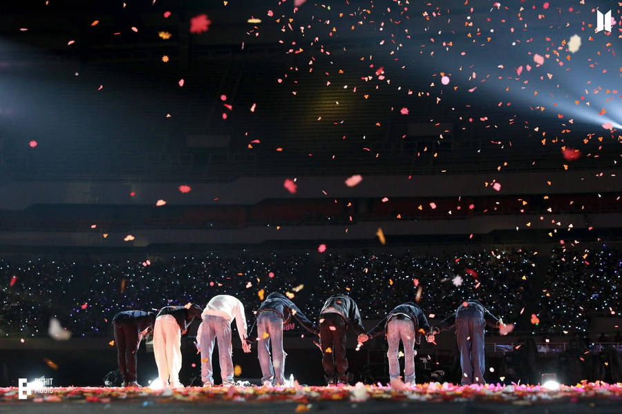
<instances>
[{"instance_id":1,"label":"rightmost bowing person in dark jacket and dark blue jeans","mask_svg":"<svg viewBox=\"0 0 622 414\"><path fill-rule=\"evenodd\" d=\"M455 313L446 317L440 324L433 327L428 334L428 342L434 342L434 335L455 326L455 337L460 350L460 366L462 367L462 385L486 384L484 372L484 327L494 328L505 326L502 320L493 316L487 308L475 299L469 299L456 309Z\"/></svg>"}]
</instances>

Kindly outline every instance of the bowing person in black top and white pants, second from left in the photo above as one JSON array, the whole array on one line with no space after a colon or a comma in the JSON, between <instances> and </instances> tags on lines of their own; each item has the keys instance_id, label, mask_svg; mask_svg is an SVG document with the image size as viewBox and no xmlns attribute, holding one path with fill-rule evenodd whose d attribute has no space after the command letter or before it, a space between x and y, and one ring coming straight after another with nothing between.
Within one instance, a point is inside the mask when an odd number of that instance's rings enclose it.
<instances>
[{"instance_id":1,"label":"bowing person in black top and white pants, second from left","mask_svg":"<svg viewBox=\"0 0 622 414\"><path fill-rule=\"evenodd\" d=\"M153 354L156 356L158 377L162 386L183 386L179 381L181 336L187 333L190 323L200 315L201 308L198 305L164 306L156 315L156 324L153 326Z\"/></svg>"}]
</instances>

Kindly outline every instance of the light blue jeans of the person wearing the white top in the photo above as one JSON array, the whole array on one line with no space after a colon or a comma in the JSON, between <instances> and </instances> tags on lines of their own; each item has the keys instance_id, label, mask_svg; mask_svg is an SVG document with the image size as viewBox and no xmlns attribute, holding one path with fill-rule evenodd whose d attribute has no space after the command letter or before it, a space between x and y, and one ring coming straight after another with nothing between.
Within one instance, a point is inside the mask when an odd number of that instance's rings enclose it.
<instances>
[{"instance_id":1,"label":"light blue jeans of the person wearing the white top","mask_svg":"<svg viewBox=\"0 0 622 414\"><path fill-rule=\"evenodd\" d=\"M218 356L220 357L220 377L224 382L234 381L233 349L231 345L231 323L224 317L205 315L199 343L201 346L201 380L214 384L214 371L211 368L211 355L214 343L218 340Z\"/></svg>"}]
</instances>

